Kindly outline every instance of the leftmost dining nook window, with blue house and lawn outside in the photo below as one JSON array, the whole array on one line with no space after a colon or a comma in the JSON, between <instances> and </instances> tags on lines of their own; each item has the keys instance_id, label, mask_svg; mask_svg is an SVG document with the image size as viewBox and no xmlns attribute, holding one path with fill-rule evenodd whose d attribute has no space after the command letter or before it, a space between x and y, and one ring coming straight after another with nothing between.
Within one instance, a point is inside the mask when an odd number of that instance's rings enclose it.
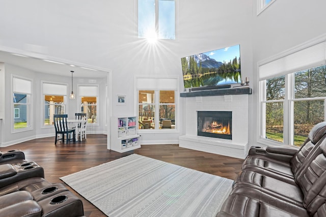
<instances>
[{"instance_id":1,"label":"leftmost dining nook window, with blue house and lawn outside","mask_svg":"<svg viewBox=\"0 0 326 217\"><path fill-rule=\"evenodd\" d=\"M31 129L32 80L12 76L12 131Z\"/></svg>"}]
</instances>

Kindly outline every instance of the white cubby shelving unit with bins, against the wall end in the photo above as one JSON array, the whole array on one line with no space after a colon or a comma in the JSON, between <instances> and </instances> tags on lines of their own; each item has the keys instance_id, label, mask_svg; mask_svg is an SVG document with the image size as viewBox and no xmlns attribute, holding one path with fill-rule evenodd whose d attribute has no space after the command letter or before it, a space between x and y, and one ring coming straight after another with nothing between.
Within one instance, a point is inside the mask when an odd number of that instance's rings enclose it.
<instances>
[{"instance_id":1,"label":"white cubby shelving unit with bins, against the wall end","mask_svg":"<svg viewBox=\"0 0 326 217\"><path fill-rule=\"evenodd\" d=\"M137 116L112 117L111 149L120 153L141 147Z\"/></svg>"}]
</instances>

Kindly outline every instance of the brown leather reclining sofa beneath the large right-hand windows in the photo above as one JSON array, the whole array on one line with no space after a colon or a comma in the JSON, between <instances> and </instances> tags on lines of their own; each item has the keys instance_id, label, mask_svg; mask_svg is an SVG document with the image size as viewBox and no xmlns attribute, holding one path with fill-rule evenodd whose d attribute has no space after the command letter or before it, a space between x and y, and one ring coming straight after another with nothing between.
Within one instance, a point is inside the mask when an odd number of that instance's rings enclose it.
<instances>
[{"instance_id":1,"label":"brown leather reclining sofa beneath the large right-hand windows","mask_svg":"<svg viewBox=\"0 0 326 217\"><path fill-rule=\"evenodd\" d=\"M301 148L252 146L219 217L326 216L326 122Z\"/></svg>"}]
</instances>

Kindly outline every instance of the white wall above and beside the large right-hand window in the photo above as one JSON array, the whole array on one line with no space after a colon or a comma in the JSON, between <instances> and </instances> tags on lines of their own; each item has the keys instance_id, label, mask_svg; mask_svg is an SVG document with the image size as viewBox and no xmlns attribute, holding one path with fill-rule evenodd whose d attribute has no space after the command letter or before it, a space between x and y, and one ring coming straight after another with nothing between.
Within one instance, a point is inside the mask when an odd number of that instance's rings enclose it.
<instances>
[{"instance_id":1,"label":"white wall above and beside the large right-hand window","mask_svg":"<svg viewBox=\"0 0 326 217\"><path fill-rule=\"evenodd\" d=\"M253 1L256 8L256 1ZM258 125L258 71L257 63L273 57L283 51L306 43L316 37L325 36L326 19L324 8L326 1L276 0L253 22L253 115L251 141L255 143L259 136Z\"/></svg>"}]
</instances>

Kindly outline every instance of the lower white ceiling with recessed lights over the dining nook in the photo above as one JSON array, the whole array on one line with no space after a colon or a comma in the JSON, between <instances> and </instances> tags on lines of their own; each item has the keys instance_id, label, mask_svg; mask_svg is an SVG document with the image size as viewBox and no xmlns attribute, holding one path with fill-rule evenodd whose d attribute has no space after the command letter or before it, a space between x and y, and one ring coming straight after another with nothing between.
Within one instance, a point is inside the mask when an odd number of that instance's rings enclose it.
<instances>
[{"instance_id":1,"label":"lower white ceiling with recessed lights over the dining nook","mask_svg":"<svg viewBox=\"0 0 326 217\"><path fill-rule=\"evenodd\" d=\"M101 78L106 77L107 72L102 70L94 70L73 66L70 63L57 64L49 63L40 58L35 58L26 55L15 55L10 52L0 50L0 62L19 66L35 72L55 74L61 76L71 76L70 71L74 71L73 76L78 78Z\"/></svg>"}]
</instances>

